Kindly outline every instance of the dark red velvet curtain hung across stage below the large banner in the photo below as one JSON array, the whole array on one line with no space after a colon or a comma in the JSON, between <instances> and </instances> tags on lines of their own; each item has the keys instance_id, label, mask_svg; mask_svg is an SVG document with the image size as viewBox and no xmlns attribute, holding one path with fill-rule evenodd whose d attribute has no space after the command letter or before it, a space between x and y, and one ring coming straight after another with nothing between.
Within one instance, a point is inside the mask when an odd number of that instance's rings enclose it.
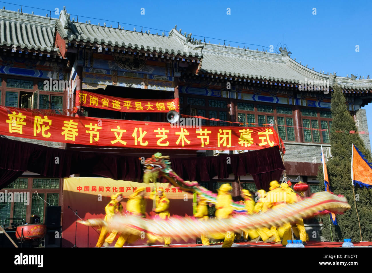
<instances>
[{"instance_id":1,"label":"dark red velvet curtain hung across stage below the large banner","mask_svg":"<svg viewBox=\"0 0 372 273\"><path fill-rule=\"evenodd\" d=\"M76 152L5 138L0 138L0 152L0 170L3 169L0 171L0 188L25 171L58 178L84 173L115 180L142 181L143 166L137 156ZM251 174L257 188L265 190L270 181L280 179L285 169L278 146L238 155L172 158L171 165L180 177L190 181Z\"/></svg>"}]
</instances>

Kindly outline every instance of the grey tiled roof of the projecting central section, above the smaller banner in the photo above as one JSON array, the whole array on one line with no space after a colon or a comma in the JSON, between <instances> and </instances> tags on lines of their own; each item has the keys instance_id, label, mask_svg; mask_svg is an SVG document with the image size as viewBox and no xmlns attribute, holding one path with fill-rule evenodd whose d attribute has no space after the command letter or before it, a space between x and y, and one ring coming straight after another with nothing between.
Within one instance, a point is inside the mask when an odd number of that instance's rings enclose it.
<instances>
[{"instance_id":1,"label":"grey tiled roof of the projecting central section, above the smaller banner","mask_svg":"<svg viewBox=\"0 0 372 273\"><path fill-rule=\"evenodd\" d=\"M61 37L69 42L97 43L118 48L137 48L156 53L169 53L186 57L201 57L202 45L186 44L186 37L172 29L168 36L149 34L145 32L129 31L97 26L90 23L71 21L65 10L61 12L57 31Z\"/></svg>"}]
</instances>

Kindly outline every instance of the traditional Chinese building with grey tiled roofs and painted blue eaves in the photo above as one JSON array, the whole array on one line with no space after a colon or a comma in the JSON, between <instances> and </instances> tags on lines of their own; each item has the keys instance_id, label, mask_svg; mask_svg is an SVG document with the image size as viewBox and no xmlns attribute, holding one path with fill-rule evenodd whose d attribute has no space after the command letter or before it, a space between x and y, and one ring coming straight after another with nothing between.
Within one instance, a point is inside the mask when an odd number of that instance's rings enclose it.
<instances>
[{"instance_id":1,"label":"traditional Chinese building with grey tiled roofs and painted blue eaves","mask_svg":"<svg viewBox=\"0 0 372 273\"><path fill-rule=\"evenodd\" d=\"M202 119L202 126L273 127L285 146L286 175L293 184L300 180L307 182L309 190L305 195L309 196L319 191L321 146L326 157L332 157L331 92L338 83L358 131L364 132L361 137L371 149L366 112L361 107L372 101L372 80L315 71L312 67L315 64L310 68L298 63L286 48L280 48L278 54L246 46L211 44L182 32L177 26L166 34L106 23L92 25L90 21L70 18L65 9L58 19L3 9L0 26L0 105L3 107L50 109L69 116L167 122L167 107L163 113L81 107L76 92L132 99L179 98L180 114L207 118ZM66 81L68 85L44 88L45 80L50 79ZM81 153L145 158L154 152L171 158L248 152L244 147L242 150L154 151L4 137ZM76 176L96 177L92 172ZM234 188L236 200L240 188L257 191L257 183L249 174L199 181L214 192L226 182ZM8 226L6 218L23 218L28 222L35 214L43 221L49 205L38 196L53 206L62 206L62 187L63 178L23 172L1 191L27 191L32 201L29 206L0 203L0 224ZM318 231L321 228L318 220L308 219L307 230Z\"/></svg>"}]
</instances>

